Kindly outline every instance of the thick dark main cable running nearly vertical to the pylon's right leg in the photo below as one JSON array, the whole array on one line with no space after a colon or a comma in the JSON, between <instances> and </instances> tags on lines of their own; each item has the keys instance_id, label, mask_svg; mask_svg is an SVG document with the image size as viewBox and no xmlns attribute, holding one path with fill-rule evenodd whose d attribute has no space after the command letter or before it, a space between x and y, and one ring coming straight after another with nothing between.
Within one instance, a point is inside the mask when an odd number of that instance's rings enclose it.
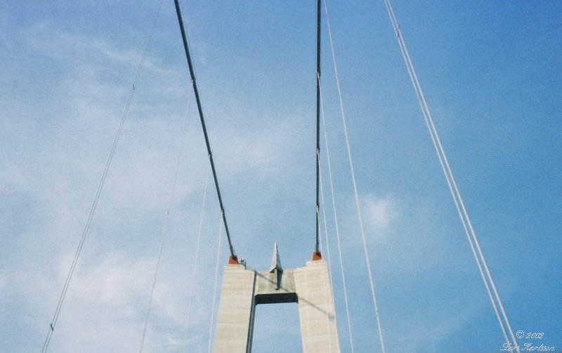
<instances>
[{"instance_id":1,"label":"thick dark main cable running nearly vertical to the pylon's right leg","mask_svg":"<svg viewBox=\"0 0 562 353\"><path fill-rule=\"evenodd\" d=\"M322 2L316 2L316 244L314 253L320 255L320 6Z\"/></svg>"}]
</instances>

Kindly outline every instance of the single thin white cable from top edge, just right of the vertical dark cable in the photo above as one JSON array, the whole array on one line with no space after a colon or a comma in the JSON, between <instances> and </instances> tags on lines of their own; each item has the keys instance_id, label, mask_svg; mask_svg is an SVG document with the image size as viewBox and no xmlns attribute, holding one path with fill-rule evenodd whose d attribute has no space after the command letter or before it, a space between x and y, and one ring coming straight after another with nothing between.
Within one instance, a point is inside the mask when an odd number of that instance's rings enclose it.
<instances>
[{"instance_id":1,"label":"single thin white cable from top edge, just right of the vertical dark cable","mask_svg":"<svg viewBox=\"0 0 562 353\"><path fill-rule=\"evenodd\" d=\"M330 48L332 49L332 62L333 62L333 65L334 65L334 74L336 76L336 86L337 86L337 91L338 91L341 121L344 124L344 135L346 137L346 147L347 147L349 168L350 168L350 171L351 171L351 180L353 181L353 194L355 195L355 207L357 208L357 216L358 216L359 226L360 226L360 230L361 230L361 240L362 240L362 244L363 244L363 251L365 253L365 262L366 262L366 265L367 265L367 272L369 274L369 282L370 282L370 286L371 286L371 296L372 296L373 305L374 305L374 314L375 314L375 317L377 319L377 330L379 331L379 340L381 342L381 349L382 349L382 352L385 353L386 349L384 348L384 339L383 339L383 335L382 335L379 305L377 304L377 293L374 290L374 280L373 280L373 275L372 275L372 270L371 270L371 261L370 261L370 258L369 258L369 251L367 251L367 239L365 238L365 227L363 225L363 219L362 219L362 215L361 215L361 207L360 207L360 204L359 204L359 194L358 194L358 191L357 191L357 182L355 180L355 170L353 168L353 159L351 157L351 147L349 145L349 137L348 137L348 132L347 132L346 113L345 113L345 110L344 110L344 100L343 100L342 95L341 95L341 84L339 82L339 74L338 74L338 69L337 69L337 64L336 64L336 54L335 54L335 51L334 51L334 42L332 41L332 28L330 27L330 23L329 23L329 15L328 15L328 8L327 8L327 5L326 5L326 0L324 0L324 10L325 10L325 14L326 14L326 25L327 25L327 28L328 28L329 44L330 44Z\"/></svg>"}]
</instances>

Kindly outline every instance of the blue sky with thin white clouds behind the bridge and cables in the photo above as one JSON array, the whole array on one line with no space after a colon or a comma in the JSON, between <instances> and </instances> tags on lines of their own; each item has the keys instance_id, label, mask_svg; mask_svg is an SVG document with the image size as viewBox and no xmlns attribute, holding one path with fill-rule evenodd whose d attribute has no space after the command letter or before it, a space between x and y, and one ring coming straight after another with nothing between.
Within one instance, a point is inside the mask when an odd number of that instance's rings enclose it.
<instances>
[{"instance_id":1,"label":"blue sky with thin white clouds behind the bridge and cables","mask_svg":"<svg viewBox=\"0 0 562 353\"><path fill-rule=\"evenodd\" d=\"M384 2L328 6L387 351L497 352L502 334ZM511 325L544 333L521 344L562 349L562 4L394 6ZM41 349L156 8L0 4L3 352ZM235 249L249 267L266 269L277 241L284 267L299 267L314 246L314 1L191 0L183 11ZM326 32L322 40L353 345L379 352ZM189 82L173 2L164 1L50 352L138 351L186 121L145 342L145 352L181 351L207 169ZM322 175L329 200L325 154ZM326 212L324 255L349 352ZM191 352L207 349L219 218L209 188ZM221 268L227 257L223 241ZM255 352L299 352L296 305L257 315Z\"/></svg>"}]
</instances>

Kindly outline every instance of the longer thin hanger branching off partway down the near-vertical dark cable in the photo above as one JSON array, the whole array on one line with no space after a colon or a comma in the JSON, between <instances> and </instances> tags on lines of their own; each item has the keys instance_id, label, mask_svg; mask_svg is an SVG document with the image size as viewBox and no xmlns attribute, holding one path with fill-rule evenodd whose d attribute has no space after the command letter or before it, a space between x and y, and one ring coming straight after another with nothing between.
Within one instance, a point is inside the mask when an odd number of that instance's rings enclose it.
<instances>
[{"instance_id":1,"label":"longer thin hanger branching off partway down the near-vertical dark cable","mask_svg":"<svg viewBox=\"0 0 562 353\"><path fill-rule=\"evenodd\" d=\"M351 346L351 353L354 353L355 350L353 349L353 335L351 334L351 319L349 316L349 305L348 305L348 298L347 298L347 284L346 284L346 274L344 271L344 258L341 255L341 241L340 241L340 237L339 237L339 223L338 223L338 216L337 216L337 212L336 212L336 198L335 198L335 193L334 193L334 181L332 180L332 162L329 156L329 147L328 147L328 134L326 131L326 119L325 119L325 114L324 114L324 102L322 100L322 87L320 86L320 102L321 107L322 107L322 128L324 131L324 142L325 142L325 149L326 149L326 160L327 160L327 166L328 166L328 177L329 177L329 188L330 188L330 192L332 194L332 212L334 213L334 225L336 226L336 239L337 239L337 244L338 244L338 255L339 255L339 269L341 272L341 282L342 284L344 284L344 302L346 304L346 317L347 317L347 327L348 327L348 333L349 333L349 343ZM320 183L322 182L322 178L320 178ZM323 194L324 190L322 188L322 205L324 205L324 194ZM326 215L324 214L324 222L326 222ZM325 227L326 227L326 223L325 223ZM327 229L326 229L327 232ZM327 237L326 237L326 242L327 242ZM328 250L328 256L329 256L329 248ZM332 274L330 273L330 279L332 278ZM334 281L332 281L332 284L334 283ZM333 294L332 294L333 295Z\"/></svg>"}]
</instances>

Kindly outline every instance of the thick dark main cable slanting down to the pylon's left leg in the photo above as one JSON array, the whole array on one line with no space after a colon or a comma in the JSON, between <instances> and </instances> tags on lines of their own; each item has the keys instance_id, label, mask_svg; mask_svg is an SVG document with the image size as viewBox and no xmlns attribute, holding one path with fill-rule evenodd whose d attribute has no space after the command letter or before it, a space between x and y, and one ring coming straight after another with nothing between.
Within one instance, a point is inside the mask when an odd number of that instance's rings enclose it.
<instances>
[{"instance_id":1,"label":"thick dark main cable slanting down to the pylon's left leg","mask_svg":"<svg viewBox=\"0 0 562 353\"><path fill-rule=\"evenodd\" d=\"M188 60L189 73L191 76L191 84L193 86L193 93L195 94L195 102L197 102L197 110L199 111L199 117L201 119L203 135L205 136L205 144L207 145L207 153L209 154L211 171L213 171L213 178L215 180L216 196L218 197L218 204L219 206L221 206L221 215L223 217L226 238L228 239L228 246L230 247L230 256L233 260L237 261L237 256L233 248L233 242L230 239L230 232L228 231L228 223L226 222L226 213L224 212L223 198L221 197L221 188L218 187L218 179L216 178L215 162L213 159L213 153L211 152L211 143L209 142L209 135L207 134L207 125L205 124L205 118L203 116L203 108L201 106L201 100L199 98L199 90L197 90L197 82L195 81L195 72L193 70L191 55L189 53L188 39L187 36L185 35L185 27L183 27L183 18L181 16L180 4L178 0L174 0L174 3L176 4L176 13L178 14L178 23L180 25L181 39L183 40L183 49L185 50L185 58L187 58Z\"/></svg>"}]
</instances>

